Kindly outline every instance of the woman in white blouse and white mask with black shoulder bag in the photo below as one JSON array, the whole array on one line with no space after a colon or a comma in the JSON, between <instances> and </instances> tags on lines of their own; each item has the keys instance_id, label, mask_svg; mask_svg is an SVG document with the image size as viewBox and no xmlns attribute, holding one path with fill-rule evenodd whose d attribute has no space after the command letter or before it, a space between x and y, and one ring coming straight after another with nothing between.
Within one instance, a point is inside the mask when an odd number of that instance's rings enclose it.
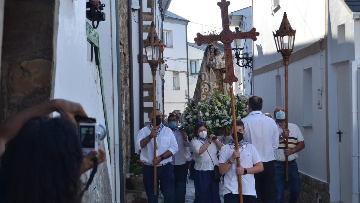
<instances>
[{"instance_id":1,"label":"woman in white blouse and white mask with black shoulder bag","mask_svg":"<svg viewBox=\"0 0 360 203\"><path fill-rule=\"evenodd\" d=\"M205 122L198 122L194 126L193 135L191 149L196 158L194 203L220 203L219 182L214 180L214 165L219 165L216 154L223 144L215 135L208 136Z\"/></svg>"}]
</instances>

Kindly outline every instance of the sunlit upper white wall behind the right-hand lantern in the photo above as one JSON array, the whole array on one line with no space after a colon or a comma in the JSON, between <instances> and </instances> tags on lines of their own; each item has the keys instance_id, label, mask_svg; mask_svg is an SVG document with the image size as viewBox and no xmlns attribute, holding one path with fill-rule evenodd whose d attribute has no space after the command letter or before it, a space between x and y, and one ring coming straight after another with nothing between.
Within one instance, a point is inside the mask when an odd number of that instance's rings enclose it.
<instances>
[{"instance_id":1,"label":"sunlit upper white wall behind the right-hand lantern","mask_svg":"<svg viewBox=\"0 0 360 203\"><path fill-rule=\"evenodd\" d=\"M284 12L287 12L292 28L296 29L294 51L324 38L325 1L280 1L280 7L271 15L271 1L253 1L253 27L260 33L253 44L254 69L282 59L276 52L272 32L279 29Z\"/></svg>"}]
</instances>

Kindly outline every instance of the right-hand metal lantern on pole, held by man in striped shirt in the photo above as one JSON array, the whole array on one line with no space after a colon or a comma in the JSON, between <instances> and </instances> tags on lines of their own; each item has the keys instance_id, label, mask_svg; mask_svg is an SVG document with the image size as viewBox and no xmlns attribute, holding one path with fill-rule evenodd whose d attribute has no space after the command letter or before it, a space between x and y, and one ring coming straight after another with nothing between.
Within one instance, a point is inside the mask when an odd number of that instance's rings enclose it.
<instances>
[{"instance_id":1,"label":"right-hand metal lantern on pole, held by man in striped shirt","mask_svg":"<svg viewBox=\"0 0 360 203\"><path fill-rule=\"evenodd\" d=\"M275 45L278 53L280 52L284 59L285 65L285 129L288 129L288 65L291 53L294 50L296 30L291 28L288 21L288 16L284 12L283 20L280 24L279 30L276 30L274 35ZM288 148L288 139L285 138L286 146ZM286 181L289 180L289 157L286 156Z\"/></svg>"}]
</instances>

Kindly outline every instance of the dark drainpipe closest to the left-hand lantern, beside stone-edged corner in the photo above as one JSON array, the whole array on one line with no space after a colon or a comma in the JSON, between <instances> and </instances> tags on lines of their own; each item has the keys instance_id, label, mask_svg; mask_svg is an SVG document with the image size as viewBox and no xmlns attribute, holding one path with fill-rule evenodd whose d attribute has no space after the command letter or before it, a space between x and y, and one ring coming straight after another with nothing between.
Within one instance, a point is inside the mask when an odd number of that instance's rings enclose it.
<instances>
[{"instance_id":1,"label":"dark drainpipe closest to the left-hand lantern, beside stone-edged corner","mask_svg":"<svg viewBox=\"0 0 360 203\"><path fill-rule=\"evenodd\" d=\"M143 1L139 1L139 86L140 86L140 129L144 126L144 62L143 62ZM134 143L134 142L132 142Z\"/></svg>"}]
</instances>

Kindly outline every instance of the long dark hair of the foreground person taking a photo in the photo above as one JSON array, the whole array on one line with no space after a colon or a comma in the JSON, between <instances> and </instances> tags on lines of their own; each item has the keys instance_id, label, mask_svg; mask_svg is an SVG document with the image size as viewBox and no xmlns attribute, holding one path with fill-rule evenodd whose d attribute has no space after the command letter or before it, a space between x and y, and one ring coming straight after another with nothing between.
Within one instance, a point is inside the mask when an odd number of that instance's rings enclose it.
<instances>
[{"instance_id":1,"label":"long dark hair of the foreground person taking a photo","mask_svg":"<svg viewBox=\"0 0 360 203\"><path fill-rule=\"evenodd\" d=\"M32 118L8 143L0 167L0 202L80 203L82 150L75 126Z\"/></svg>"}]
</instances>

